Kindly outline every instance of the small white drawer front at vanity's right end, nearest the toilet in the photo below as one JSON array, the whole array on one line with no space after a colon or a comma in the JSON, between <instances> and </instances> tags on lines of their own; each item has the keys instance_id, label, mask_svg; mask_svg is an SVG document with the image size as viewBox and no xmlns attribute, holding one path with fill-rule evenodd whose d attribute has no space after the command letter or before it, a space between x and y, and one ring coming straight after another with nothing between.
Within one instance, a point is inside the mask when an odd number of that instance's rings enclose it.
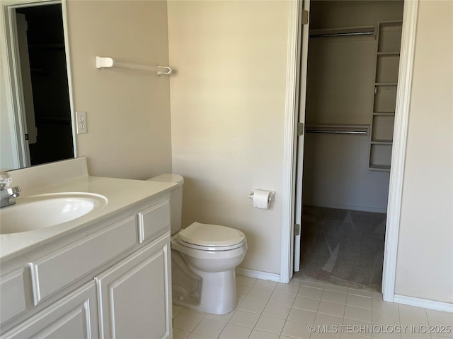
<instances>
[{"instance_id":1,"label":"small white drawer front at vanity's right end, nearest the toilet","mask_svg":"<svg viewBox=\"0 0 453 339\"><path fill-rule=\"evenodd\" d=\"M157 203L139 215L139 243L154 239L170 230L170 201L168 199Z\"/></svg>"}]
</instances>

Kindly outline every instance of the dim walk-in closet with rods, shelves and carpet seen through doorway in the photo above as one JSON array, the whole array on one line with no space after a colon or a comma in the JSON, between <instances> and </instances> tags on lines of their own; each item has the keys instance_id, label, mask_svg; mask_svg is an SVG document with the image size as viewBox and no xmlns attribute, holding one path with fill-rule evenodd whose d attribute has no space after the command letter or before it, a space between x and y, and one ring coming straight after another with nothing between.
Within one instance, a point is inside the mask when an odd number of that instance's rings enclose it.
<instances>
[{"instance_id":1,"label":"dim walk-in closet with rods, shelves and carpet seen through doorway","mask_svg":"<svg viewBox=\"0 0 453 339\"><path fill-rule=\"evenodd\" d=\"M403 1L311 1L303 278L380 290Z\"/></svg>"}]
</instances>

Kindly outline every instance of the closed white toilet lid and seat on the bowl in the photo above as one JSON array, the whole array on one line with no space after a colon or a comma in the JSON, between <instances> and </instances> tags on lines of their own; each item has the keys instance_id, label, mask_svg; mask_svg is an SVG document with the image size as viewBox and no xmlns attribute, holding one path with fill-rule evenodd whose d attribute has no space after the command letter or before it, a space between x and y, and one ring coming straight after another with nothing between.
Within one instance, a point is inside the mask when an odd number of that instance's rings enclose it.
<instances>
[{"instance_id":1,"label":"closed white toilet lid and seat on the bowl","mask_svg":"<svg viewBox=\"0 0 453 339\"><path fill-rule=\"evenodd\" d=\"M184 230L180 230L176 241L191 249L228 251L243 246L246 236L243 232L231 227L194 222Z\"/></svg>"}]
</instances>

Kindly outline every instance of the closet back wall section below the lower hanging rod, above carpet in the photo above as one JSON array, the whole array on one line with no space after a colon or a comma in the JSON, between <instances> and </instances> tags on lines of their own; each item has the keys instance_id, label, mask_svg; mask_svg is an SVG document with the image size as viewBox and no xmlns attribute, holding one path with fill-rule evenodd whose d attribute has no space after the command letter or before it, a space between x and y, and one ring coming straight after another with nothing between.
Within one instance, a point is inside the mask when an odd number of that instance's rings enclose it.
<instances>
[{"instance_id":1,"label":"closet back wall section below the lower hanging rod, above carpet","mask_svg":"<svg viewBox=\"0 0 453 339\"><path fill-rule=\"evenodd\" d=\"M368 164L369 136L306 133L304 204L386 213L389 172Z\"/></svg>"}]
</instances>

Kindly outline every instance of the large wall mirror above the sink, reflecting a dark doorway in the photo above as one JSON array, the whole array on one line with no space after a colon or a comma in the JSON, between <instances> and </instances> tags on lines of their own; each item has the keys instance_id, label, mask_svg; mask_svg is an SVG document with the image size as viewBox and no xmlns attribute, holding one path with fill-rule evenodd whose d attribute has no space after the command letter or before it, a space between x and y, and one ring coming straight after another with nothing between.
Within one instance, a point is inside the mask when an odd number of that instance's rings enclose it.
<instances>
[{"instance_id":1,"label":"large wall mirror above the sink, reflecting a dark doorway","mask_svg":"<svg viewBox=\"0 0 453 339\"><path fill-rule=\"evenodd\" d=\"M2 4L0 168L75 156L67 39L60 1ZM3 47L3 46L2 46ZM8 102L9 101L9 102Z\"/></svg>"}]
</instances>

